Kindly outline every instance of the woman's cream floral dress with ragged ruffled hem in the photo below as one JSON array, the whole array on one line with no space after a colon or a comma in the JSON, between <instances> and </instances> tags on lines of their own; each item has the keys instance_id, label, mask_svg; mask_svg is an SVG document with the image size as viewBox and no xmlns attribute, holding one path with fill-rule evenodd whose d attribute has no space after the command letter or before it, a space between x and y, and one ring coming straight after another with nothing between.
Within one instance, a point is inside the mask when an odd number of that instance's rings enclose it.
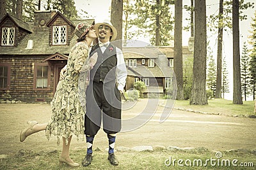
<instances>
[{"instance_id":1,"label":"woman's cream floral dress with ragged ruffled hem","mask_svg":"<svg viewBox=\"0 0 256 170\"><path fill-rule=\"evenodd\" d=\"M72 135L77 136L77 140L84 140L86 78L90 70L88 55L89 47L85 41L73 46L68 56L65 78L59 81L52 99L52 116L45 134L48 140L52 135L56 136L58 145L60 137L64 137L66 143Z\"/></svg>"}]
</instances>

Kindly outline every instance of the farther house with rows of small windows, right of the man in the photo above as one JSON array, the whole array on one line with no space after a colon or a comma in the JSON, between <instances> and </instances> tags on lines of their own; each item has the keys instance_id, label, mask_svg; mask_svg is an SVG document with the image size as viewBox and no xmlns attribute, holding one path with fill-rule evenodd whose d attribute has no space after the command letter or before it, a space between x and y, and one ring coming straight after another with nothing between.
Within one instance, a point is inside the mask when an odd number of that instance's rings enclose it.
<instances>
[{"instance_id":1,"label":"farther house with rows of small windows, right of the man","mask_svg":"<svg viewBox=\"0 0 256 170\"><path fill-rule=\"evenodd\" d=\"M166 89L175 88L173 46L124 46L123 52L128 71L125 90L134 88L136 81L145 83L145 96L164 94ZM183 59L192 56L193 53L189 51L188 46L184 46Z\"/></svg>"}]
</instances>

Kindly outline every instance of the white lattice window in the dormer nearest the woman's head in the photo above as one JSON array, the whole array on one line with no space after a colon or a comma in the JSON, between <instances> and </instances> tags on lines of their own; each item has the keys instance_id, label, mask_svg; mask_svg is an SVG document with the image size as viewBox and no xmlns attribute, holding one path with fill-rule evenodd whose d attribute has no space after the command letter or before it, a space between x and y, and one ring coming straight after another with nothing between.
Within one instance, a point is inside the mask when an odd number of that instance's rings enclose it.
<instances>
[{"instance_id":1,"label":"white lattice window in the dormer nearest the woman's head","mask_svg":"<svg viewBox=\"0 0 256 170\"><path fill-rule=\"evenodd\" d=\"M67 26L52 27L52 45L66 45L67 43Z\"/></svg>"}]
</instances>

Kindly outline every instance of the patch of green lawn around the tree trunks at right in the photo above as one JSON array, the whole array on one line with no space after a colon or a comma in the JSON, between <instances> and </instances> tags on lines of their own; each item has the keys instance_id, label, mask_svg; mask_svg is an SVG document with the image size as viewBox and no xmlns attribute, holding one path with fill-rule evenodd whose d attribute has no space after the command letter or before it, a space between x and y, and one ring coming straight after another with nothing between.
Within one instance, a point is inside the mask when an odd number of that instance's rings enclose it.
<instances>
[{"instance_id":1,"label":"patch of green lawn around the tree trunks at right","mask_svg":"<svg viewBox=\"0 0 256 170\"><path fill-rule=\"evenodd\" d=\"M204 106L190 105L189 101L175 101L174 108L237 117L255 115L253 113L254 101L243 101L243 104L233 104L232 101L226 99L208 99L208 104Z\"/></svg>"}]
</instances>

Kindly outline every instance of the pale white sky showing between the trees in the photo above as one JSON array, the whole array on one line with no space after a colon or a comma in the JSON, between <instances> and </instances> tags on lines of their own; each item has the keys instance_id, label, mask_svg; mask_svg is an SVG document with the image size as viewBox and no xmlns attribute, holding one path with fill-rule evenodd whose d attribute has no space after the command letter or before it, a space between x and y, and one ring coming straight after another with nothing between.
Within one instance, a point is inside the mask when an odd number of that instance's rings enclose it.
<instances>
[{"instance_id":1,"label":"pale white sky showing between the trees","mask_svg":"<svg viewBox=\"0 0 256 170\"><path fill-rule=\"evenodd\" d=\"M77 10L84 10L88 12L88 15L90 15L90 18L94 18L95 22L101 22L102 20L108 19L110 20L110 6L111 6L111 0L74 0L76 3L76 8ZM245 0L245 2L253 2L253 0ZM190 0L183 0L183 6L187 4L190 6ZM219 4L218 1L207 1L207 16L212 15L212 14L218 14L218 8ZM256 4L255 4L256 5ZM174 9L172 9L174 10ZM248 36L251 34L250 33L250 23L252 21L252 18L254 17L254 12L256 8L249 9L244 11L244 14L248 16L248 20L243 20L239 22L239 31L240 31L240 52L242 53L243 50L243 43L248 42ZM174 11L173 11L174 15ZM188 18L189 15L183 13L182 16L185 20L185 18ZM183 23L183 26L185 24ZM207 33L208 34L208 33ZM189 31L183 31L182 32L182 45L187 46L188 45L188 39L190 36ZM216 58L216 53L217 53L217 41L216 41L216 34L209 35L209 40L211 46L211 49L213 51L212 55L214 58ZM145 41L145 43L149 44L149 39L144 38L141 36L136 37L136 39L140 41ZM226 58L227 61L227 68L228 73L229 73L229 85L230 85L230 94L226 95L226 99L232 100L232 91L233 91L233 80L232 80L232 32L223 32L223 57ZM251 46L248 45L248 48L250 49ZM240 56L241 57L241 56Z\"/></svg>"}]
</instances>

